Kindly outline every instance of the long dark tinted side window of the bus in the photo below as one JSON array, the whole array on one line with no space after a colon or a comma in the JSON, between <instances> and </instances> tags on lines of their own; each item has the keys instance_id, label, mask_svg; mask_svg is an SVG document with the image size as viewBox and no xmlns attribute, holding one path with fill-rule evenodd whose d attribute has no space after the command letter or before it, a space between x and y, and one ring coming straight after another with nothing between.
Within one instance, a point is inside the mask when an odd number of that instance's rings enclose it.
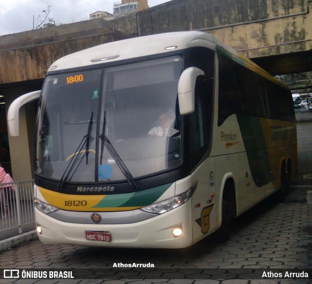
<instances>
[{"instance_id":1,"label":"long dark tinted side window of the bus","mask_svg":"<svg viewBox=\"0 0 312 284\"><path fill-rule=\"evenodd\" d=\"M219 114L218 126L230 115L292 121L290 91L218 54Z\"/></svg>"}]
</instances>

